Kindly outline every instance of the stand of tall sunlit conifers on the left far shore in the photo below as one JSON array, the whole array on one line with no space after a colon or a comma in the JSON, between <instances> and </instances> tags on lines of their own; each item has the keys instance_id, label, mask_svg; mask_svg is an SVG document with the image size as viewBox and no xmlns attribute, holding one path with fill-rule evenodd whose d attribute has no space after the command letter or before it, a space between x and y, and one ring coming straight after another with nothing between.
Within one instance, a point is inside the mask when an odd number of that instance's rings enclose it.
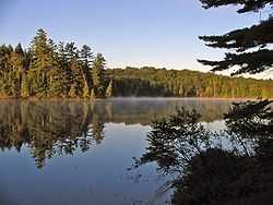
<instances>
[{"instance_id":1,"label":"stand of tall sunlit conifers on the left far shore","mask_svg":"<svg viewBox=\"0 0 273 205\"><path fill-rule=\"evenodd\" d=\"M98 55L100 57L102 55ZM27 51L19 44L0 47L0 97L87 97L93 87L93 53L84 45L59 43L38 29ZM99 75L104 82L104 75ZM98 86L104 96L105 84Z\"/></svg>"}]
</instances>

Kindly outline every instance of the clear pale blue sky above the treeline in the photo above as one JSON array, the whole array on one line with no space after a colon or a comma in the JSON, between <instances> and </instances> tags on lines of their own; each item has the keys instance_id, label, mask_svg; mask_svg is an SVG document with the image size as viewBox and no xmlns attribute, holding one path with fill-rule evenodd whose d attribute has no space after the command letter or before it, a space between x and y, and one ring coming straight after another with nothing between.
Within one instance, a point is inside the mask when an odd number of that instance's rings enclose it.
<instances>
[{"instance_id":1,"label":"clear pale blue sky above the treeline","mask_svg":"<svg viewBox=\"0 0 273 205\"><path fill-rule=\"evenodd\" d=\"M55 40L86 44L110 68L205 68L197 59L223 57L199 35L224 34L259 22L236 8L204 10L199 0L0 0L0 44L24 47L38 28ZM207 70L207 69L206 69Z\"/></svg>"}]
</instances>

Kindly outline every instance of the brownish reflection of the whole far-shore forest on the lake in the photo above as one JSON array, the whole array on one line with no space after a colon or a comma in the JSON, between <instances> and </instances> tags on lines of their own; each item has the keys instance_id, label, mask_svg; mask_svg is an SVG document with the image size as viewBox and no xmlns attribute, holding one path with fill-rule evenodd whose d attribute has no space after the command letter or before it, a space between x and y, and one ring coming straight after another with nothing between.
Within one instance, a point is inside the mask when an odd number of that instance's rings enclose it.
<instances>
[{"instance_id":1,"label":"brownish reflection of the whole far-shore forest on the lake","mask_svg":"<svg viewBox=\"0 0 273 205\"><path fill-rule=\"evenodd\" d=\"M0 148L23 145L29 148L37 168L56 155L73 155L103 143L106 122L150 124L158 117L175 112L180 106L194 107L202 121L222 118L229 101L112 99L88 101L19 101L0 104Z\"/></svg>"}]
</instances>

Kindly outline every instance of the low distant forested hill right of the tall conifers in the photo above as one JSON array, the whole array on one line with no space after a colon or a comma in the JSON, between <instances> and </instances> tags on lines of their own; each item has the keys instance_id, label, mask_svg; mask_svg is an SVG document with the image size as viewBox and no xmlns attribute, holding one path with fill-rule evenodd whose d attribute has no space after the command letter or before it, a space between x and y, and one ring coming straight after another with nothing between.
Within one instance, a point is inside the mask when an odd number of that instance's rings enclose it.
<instances>
[{"instance_id":1,"label":"low distant forested hill right of the tall conifers","mask_svg":"<svg viewBox=\"0 0 273 205\"><path fill-rule=\"evenodd\" d=\"M272 80L151 67L107 70L106 74L114 79L115 96L273 98Z\"/></svg>"}]
</instances>

